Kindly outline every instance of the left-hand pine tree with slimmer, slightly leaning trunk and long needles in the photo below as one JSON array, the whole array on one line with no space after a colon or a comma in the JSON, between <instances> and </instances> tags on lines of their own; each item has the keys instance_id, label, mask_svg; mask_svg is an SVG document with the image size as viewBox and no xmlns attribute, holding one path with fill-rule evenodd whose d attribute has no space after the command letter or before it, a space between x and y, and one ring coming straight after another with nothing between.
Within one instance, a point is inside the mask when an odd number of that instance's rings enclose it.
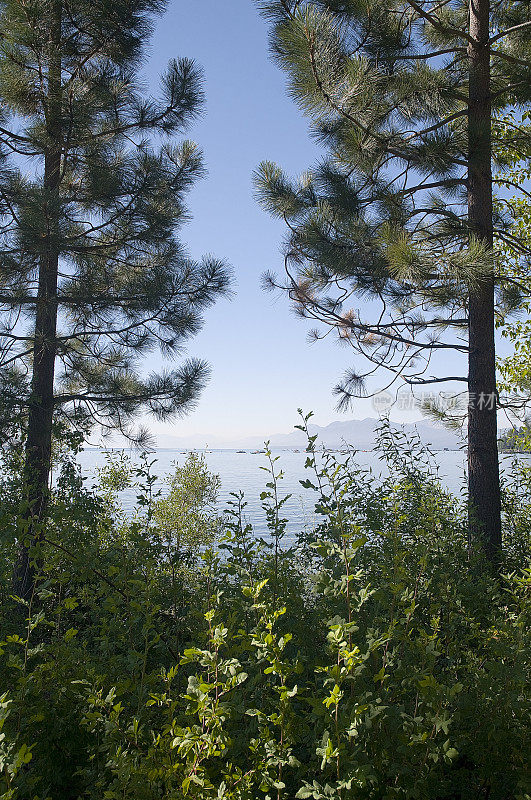
<instances>
[{"instance_id":1,"label":"left-hand pine tree with slimmer, slightly leaning trunk and long needles","mask_svg":"<svg viewBox=\"0 0 531 800\"><path fill-rule=\"evenodd\" d=\"M227 291L227 267L191 260L177 238L203 172L172 143L202 104L193 62L170 63L143 97L145 43L164 0L0 3L0 358L4 404L24 407L26 443L16 590L34 585L52 427L87 421L131 434L140 412L193 405L207 365L143 375L174 358ZM16 388L16 392L13 390Z\"/></svg>"}]
</instances>

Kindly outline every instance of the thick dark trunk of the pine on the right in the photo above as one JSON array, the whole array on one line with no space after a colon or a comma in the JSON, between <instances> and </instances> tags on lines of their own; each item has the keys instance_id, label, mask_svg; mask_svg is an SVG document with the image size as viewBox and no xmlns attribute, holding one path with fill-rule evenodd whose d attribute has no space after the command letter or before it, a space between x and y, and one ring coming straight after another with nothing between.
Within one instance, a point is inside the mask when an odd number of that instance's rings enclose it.
<instances>
[{"instance_id":1,"label":"thick dark trunk of the pine on the right","mask_svg":"<svg viewBox=\"0 0 531 800\"><path fill-rule=\"evenodd\" d=\"M489 0L471 0L474 44L468 48L468 219L477 238L492 248L489 20ZM496 565L502 542L494 303L494 275L490 273L469 297L469 536L470 545L478 543Z\"/></svg>"}]
</instances>

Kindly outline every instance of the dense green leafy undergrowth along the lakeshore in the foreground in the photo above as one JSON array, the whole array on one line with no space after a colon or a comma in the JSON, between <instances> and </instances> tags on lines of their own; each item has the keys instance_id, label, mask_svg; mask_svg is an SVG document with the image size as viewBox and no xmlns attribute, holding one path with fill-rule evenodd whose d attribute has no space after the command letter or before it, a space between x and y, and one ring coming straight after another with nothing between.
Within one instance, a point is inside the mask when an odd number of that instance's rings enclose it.
<instances>
[{"instance_id":1,"label":"dense green leafy undergrowth along the lakeshore in the foreground","mask_svg":"<svg viewBox=\"0 0 531 800\"><path fill-rule=\"evenodd\" d=\"M161 496L145 459L110 461L89 491L63 454L27 604L10 595L13 451L0 798L531 796L529 476L505 487L497 578L419 443L382 425L389 478L316 447L309 437L319 522L289 542L273 456L260 539L241 495L217 516L198 456Z\"/></svg>"}]
</instances>

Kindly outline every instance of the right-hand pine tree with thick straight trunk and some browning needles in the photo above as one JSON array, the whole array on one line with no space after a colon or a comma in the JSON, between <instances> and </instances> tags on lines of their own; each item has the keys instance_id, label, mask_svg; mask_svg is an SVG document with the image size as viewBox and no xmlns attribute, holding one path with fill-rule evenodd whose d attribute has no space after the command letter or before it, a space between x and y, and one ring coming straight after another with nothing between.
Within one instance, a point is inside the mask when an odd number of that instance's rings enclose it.
<instances>
[{"instance_id":1,"label":"right-hand pine tree with thick straight trunk and some browning needles","mask_svg":"<svg viewBox=\"0 0 531 800\"><path fill-rule=\"evenodd\" d=\"M531 99L529 3L513 0L279 0L261 3L291 93L328 155L297 184L271 163L257 187L289 226L283 288L368 362L365 378L468 388L471 544L501 554L495 317L520 302L494 244L510 241L493 201L493 121ZM507 145L507 141L505 142ZM525 150L515 123L510 146ZM277 285L274 276L270 282ZM362 314L350 307L366 301ZM319 332L316 336L321 335ZM440 375L440 353L468 373ZM459 359L457 359L459 360Z\"/></svg>"}]
</instances>

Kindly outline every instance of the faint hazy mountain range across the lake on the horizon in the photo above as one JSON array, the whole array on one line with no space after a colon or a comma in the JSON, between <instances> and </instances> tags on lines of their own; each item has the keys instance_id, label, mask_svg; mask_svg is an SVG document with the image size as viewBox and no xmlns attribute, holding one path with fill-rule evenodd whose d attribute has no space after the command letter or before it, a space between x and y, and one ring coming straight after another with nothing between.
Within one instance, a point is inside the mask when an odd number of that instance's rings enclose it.
<instances>
[{"instance_id":1,"label":"faint hazy mountain range across the lake on the horizon","mask_svg":"<svg viewBox=\"0 0 531 800\"><path fill-rule=\"evenodd\" d=\"M317 434L318 445L327 448L338 449L350 445L356 450L372 450L376 442L376 427L379 420L367 417L367 419L351 419L331 422L330 425L321 427L320 425L310 425L310 434ZM459 437L446 428L434 425L431 422L407 423L404 425L394 425L395 428L406 434L417 433L422 442L431 446L434 450L450 450L459 447ZM159 436L158 446L160 448L171 449L211 449L236 448L242 450L258 450L264 446L262 436L248 436L245 438L224 439L219 436L208 436L207 434L194 434L192 436ZM294 430L291 433L277 433L269 437L272 447L303 448L306 446L306 438L302 431Z\"/></svg>"}]
</instances>

